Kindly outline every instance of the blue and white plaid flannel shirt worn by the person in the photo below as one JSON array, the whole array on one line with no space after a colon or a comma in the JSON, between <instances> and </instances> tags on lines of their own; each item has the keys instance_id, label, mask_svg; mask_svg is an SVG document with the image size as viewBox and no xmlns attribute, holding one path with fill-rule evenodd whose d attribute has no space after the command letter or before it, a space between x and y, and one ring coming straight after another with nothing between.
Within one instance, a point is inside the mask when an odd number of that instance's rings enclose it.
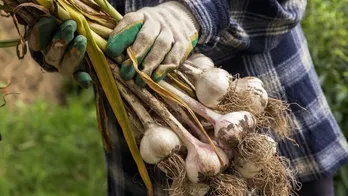
<instances>
[{"instance_id":1,"label":"blue and white plaid flannel shirt worn by the person","mask_svg":"<svg viewBox=\"0 0 348 196\"><path fill-rule=\"evenodd\" d=\"M157 0L111 0L125 13ZM280 154L291 159L301 182L330 176L348 163L348 145L321 90L300 21L304 0L181 0L201 25L196 51L211 57L217 66L240 76L257 76L271 97L291 106L292 136L299 144L279 142ZM124 14L124 13L122 13ZM111 110L109 111L112 117ZM111 196L146 195L145 186L128 151L116 119L115 150L106 154L108 193ZM149 167L155 170L154 167ZM161 173L151 172L155 195L162 191Z\"/></svg>"}]
</instances>

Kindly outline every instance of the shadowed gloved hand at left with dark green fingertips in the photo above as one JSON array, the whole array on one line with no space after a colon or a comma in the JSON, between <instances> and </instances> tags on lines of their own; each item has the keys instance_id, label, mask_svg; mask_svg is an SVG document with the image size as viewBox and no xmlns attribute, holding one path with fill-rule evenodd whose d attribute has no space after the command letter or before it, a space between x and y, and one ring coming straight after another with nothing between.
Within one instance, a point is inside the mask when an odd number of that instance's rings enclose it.
<instances>
[{"instance_id":1,"label":"shadowed gloved hand at left with dark green fingertips","mask_svg":"<svg viewBox=\"0 0 348 196\"><path fill-rule=\"evenodd\" d=\"M32 57L48 72L73 76L80 86L88 88L92 79L83 71L87 39L76 36L76 22L58 25L54 17L41 18L30 30L28 45Z\"/></svg>"}]
</instances>

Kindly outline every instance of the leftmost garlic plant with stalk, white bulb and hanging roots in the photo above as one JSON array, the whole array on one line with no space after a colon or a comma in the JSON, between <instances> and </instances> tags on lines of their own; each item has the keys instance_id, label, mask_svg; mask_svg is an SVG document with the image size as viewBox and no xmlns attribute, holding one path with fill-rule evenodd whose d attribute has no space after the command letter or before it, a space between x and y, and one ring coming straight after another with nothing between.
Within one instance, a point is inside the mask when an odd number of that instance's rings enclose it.
<instances>
[{"instance_id":1,"label":"leftmost garlic plant with stalk, white bulb and hanging roots","mask_svg":"<svg viewBox=\"0 0 348 196\"><path fill-rule=\"evenodd\" d=\"M132 106L145 127L145 134L140 142L140 154L144 161L149 164L158 164L160 170L171 176L173 180L171 189L183 190L190 195L205 195L210 189L209 185L192 183L189 180L184 184L185 181L182 180L186 178L186 173L180 172L180 168L184 169L185 163L178 161L181 159L180 156L173 153L182 146L178 136L169 128L158 126L133 94L127 92L122 84L118 84L118 87L122 97Z\"/></svg>"}]
</instances>

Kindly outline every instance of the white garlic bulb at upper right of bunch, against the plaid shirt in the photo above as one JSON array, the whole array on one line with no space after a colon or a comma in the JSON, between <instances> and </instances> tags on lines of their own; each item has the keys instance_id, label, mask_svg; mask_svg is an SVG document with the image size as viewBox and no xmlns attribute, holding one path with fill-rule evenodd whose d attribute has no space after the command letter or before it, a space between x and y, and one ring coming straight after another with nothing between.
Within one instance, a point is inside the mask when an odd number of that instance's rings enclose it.
<instances>
[{"instance_id":1,"label":"white garlic bulb at upper right of bunch, against the plaid shirt","mask_svg":"<svg viewBox=\"0 0 348 196\"><path fill-rule=\"evenodd\" d=\"M249 106L253 114L260 114L268 104L268 94L263 82L256 77L244 77L233 81L234 91L238 93L249 92L252 103Z\"/></svg>"}]
</instances>

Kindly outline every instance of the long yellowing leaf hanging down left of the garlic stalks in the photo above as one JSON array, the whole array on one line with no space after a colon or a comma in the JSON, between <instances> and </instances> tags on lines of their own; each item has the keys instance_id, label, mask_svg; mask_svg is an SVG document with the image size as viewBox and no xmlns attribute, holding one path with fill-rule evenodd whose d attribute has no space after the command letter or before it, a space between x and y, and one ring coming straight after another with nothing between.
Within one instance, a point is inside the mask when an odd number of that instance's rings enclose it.
<instances>
[{"instance_id":1,"label":"long yellowing leaf hanging down left of the garlic stalks","mask_svg":"<svg viewBox=\"0 0 348 196\"><path fill-rule=\"evenodd\" d=\"M109 69L106 57L93 38L85 17L64 0L58 1L63 6L63 8L65 8L66 11L69 12L69 15L72 17L72 19L76 21L78 33L84 35L88 40L87 54L94 66L99 82L103 90L105 91L105 95L110 102L113 112L115 113L115 116L122 128L123 135L138 166L139 173L147 187L148 194L152 195L152 183L146 170L144 161L140 156L139 149L136 145L136 141L131 130L127 112L123 105L123 101L121 99L115 80L112 76L111 70Z\"/></svg>"}]
</instances>

